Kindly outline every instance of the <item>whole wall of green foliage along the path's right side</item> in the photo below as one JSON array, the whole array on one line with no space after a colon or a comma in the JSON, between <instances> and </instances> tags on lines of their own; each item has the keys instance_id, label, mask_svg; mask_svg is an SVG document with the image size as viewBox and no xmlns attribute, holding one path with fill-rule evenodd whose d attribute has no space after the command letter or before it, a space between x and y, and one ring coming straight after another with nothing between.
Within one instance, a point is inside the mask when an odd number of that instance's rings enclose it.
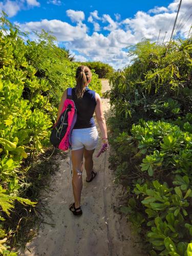
<instances>
[{"instance_id":1,"label":"whole wall of green foliage along the path's right side","mask_svg":"<svg viewBox=\"0 0 192 256\"><path fill-rule=\"evenodd\" d=\"M191 42L130 48L132 65L110 78L105 94L113 112L111 164L129 198L121 211L151 255L191 255Z\"/></svg>"}]
</instances>

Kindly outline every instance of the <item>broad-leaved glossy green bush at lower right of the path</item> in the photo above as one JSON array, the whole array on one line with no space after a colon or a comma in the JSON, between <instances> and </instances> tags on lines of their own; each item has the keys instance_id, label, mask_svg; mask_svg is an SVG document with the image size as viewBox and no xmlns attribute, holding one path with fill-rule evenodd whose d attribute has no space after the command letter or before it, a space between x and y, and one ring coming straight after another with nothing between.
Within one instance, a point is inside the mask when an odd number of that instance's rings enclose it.
<instances>
[{"instance_id":1,"label":"broad-leaved glossy green bush at lower right of the path","mask_svg":"<svg viewBox=\"0 0 192 256\"><path fill-rule=\"evenodd\" d=\"M116 181L121 178L128 185L129 200L121 210L138 231L145 230L151 255L187 255L192 231L192 134L174 124L144 120L131 132L132 136L123 132L112 141ZM180 243L185 245L182 250Z\"/></svg>"}]
</instances>

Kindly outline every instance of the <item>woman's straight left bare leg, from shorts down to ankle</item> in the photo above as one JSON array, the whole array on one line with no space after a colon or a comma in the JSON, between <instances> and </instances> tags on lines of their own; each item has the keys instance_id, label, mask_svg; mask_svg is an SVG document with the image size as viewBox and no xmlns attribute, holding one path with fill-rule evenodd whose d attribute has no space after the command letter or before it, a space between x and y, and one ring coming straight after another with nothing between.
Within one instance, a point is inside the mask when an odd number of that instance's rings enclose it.
<instances>
[{"instance_id":1,"label":"woman's straight left bare leg, from shorts down to ankle","mask_svg":"<svg viewBox=\"0 0 192 256\"><path fill-rule=\"evenodd\" d=\"M80 198L82 190L82 163L83 163L83 148L71 152L71 160L73 164L73 195L75 200L75 208L80 207Z\"/></svg>"}]
</instances>

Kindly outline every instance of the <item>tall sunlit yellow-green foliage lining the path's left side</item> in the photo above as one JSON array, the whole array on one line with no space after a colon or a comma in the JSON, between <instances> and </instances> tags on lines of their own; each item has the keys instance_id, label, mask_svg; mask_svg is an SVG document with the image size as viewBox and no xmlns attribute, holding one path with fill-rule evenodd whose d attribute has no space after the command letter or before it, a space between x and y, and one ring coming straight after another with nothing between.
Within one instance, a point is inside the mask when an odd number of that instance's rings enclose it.
<instances>
[{"instance_id":1,"label":"tall sunlit yellow-green foliage lining the path's left side","mask_svg":"<svg viewBox=\"0 0 192 256\"><path fill-rule=\"evenodd\" d=\"M58 48L56 38L45 31L36 34L38 41L30 41L5 14L0 28L0 251L8 255L4 243L11 235L6 237L3 226L10 221L15 200L35 206L24 198L27 188L33 188L33 182L25 181L27 172L34 157L50 146L59 99L65 89L75 86L78 63L70 61L69 51ZM101 93L95 73L90 88Z\"/></svg>"}]
</instances>

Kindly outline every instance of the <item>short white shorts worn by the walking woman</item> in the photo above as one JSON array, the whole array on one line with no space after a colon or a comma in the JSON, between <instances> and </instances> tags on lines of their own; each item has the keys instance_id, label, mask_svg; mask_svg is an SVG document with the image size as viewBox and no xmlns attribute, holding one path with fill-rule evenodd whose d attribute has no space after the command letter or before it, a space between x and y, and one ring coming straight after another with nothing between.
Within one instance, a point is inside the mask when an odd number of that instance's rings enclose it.
<instances>
[{"instance_id":1,"label":"short white shorts worn by the walking woman","mask_svg":"<svg viewBox=\"0 0 192 256\"><path fill-rule=\"evenodd\" d=\"M91 128L73 129L71 134L72 150L80 150L85 147L86 150L96 148L98 142L98 131L96 126Z\"/></svg>"}]
</instances>

